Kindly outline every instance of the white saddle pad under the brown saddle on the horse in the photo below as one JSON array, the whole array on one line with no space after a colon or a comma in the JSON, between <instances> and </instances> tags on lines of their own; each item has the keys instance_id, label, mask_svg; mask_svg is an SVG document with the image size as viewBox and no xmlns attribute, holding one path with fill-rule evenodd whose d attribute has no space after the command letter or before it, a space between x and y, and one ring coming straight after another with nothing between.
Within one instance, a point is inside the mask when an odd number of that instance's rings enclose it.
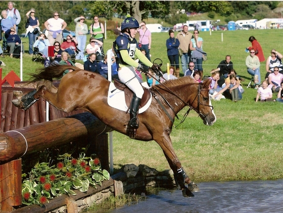
<instances>
[{"instance_id":1,"label":"white saddle pad under the brown saddle on the horse","mask_svg":"<svg viewBox=\"0 0 283 213\"><path fill-rule=\"evenodd\" d=\"M115 109L119 109L119 110L126 112L128 110L128 107L126 105L124 91L121 91L121 90L118 90L118 89L115 90L115 89L116 89L116 87L111 82L110 85L109 85L109 89L108 89L107 102L108 102L109 106L111 106ZM112 90L115 90L115 91L113 93L111 93ZM151 95L148 103L144 107L141 107L138 110L138 114L146 111L150 107L151 101L152 101L152 95Z\"/></svg>"}]
</instances>

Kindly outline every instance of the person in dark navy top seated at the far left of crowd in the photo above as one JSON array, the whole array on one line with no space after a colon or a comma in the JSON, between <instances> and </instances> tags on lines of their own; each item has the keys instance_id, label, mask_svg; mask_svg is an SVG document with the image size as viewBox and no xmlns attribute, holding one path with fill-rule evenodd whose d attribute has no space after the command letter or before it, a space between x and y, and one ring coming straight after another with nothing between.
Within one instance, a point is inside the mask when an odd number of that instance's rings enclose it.
<instances>
[{"instance_id":1,"label":"person in dark navy top seated at the far left of crowd","mask_svg":"<svg viewBox=\"0 0 283 213\"><path fill-rule=\"evenodd\" d=\"M18 47L19 44L22 43L20 37L18 35L16 35L16 30L14 27L11 27L11 29L7 30L5 32L5 38L7 39L7 44L10 47L10 57L13 57L13 54L15 54L15 57L20 57L20 51L24 49L24 47ZM20 51L18 51L17 53L15 52L16 48L20 48ZM17 54L17 55L16 55Z\"/></svg>"}]
</instances>

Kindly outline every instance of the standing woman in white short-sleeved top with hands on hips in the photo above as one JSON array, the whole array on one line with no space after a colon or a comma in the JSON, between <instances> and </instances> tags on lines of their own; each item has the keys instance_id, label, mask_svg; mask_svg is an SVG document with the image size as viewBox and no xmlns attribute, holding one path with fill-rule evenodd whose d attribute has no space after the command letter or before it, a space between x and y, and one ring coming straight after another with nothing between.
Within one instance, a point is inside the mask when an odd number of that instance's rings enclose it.
<instances>
[{"instance_id":1,"label":"standing woman in white short-sleeved top with hands on hips","mask_svg":"<svg viewBox=\"0 0 283 213\"><path fill-rule=\"evenodd\" d=\"M62 43L63 30L67 27L67 23L59 17L60 15L56 11L53 13L53 18L50 18L44 23L46 30L49 31L47 37L51 45L54 45L55 41L58 41L60 44Z\"/></svg>"}]
</instances>

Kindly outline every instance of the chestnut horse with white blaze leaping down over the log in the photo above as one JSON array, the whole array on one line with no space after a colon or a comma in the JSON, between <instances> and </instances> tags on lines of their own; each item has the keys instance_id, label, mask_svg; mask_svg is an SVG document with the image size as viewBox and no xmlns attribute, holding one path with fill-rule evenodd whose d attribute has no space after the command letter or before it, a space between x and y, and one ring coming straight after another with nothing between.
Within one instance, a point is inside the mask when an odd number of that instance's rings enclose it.
<instances>
[{"instance_id":1,"label":"chestnut horse with white blaze leaping down over the log","mask_svg":"<svg viewBox=\"0 0 283 213\"><path fill-rule=\"evenodd\" d=\"M73 71L63 76L58 88L54 87L49 81L61 78L66 69ZM108 105L110 82L101 75L74 66L54 65L31 76L31 82L48 81L30 94L13 100L17 107L24 108L24 102L29 98L33 98L34 103L42 97L67 113L77 109L89 111L112 129L128 135L129 114ZM199 191L199 188L184 172L174 152L170 133L175 116L185 106L190 107L188 112L194 109L205 125L212 125L216 121L209 96L210 83L209 79L203 83L194 83L191 77L183 77L153 86L151 92L154 98L151 105L145 112L138 114L139 127L136 129L135 139L155 140L159 144L174 172L176 184L185 197L194 196L192 191ZM32 103L29 102L29 106Z\"/></svg>"}]
</instances>

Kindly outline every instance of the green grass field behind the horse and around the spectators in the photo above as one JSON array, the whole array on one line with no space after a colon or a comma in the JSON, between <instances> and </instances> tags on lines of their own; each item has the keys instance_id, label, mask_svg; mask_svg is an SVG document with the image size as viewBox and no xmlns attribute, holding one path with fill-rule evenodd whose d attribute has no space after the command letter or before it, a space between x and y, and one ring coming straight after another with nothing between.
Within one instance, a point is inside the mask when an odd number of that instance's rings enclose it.
<instances>
[{"instance_id":1,"label":"green grass field behind the horse and around the spectators","mask_svg":"<svg viewBox=\"0 0 283 213\"><path fill-rule=\"evenodd\" d=\"M173 128L171 138L175 152L183 168L195 182L210 180L246 180L283 178L283 130L282 109L280 103L255 103L256 90L246 88L250 75L247 73L245 60L248 53L245 48L251 43L251 35L260 42L265 58L275 48L283 53L281 41L283 30L241 30L200 32L203 49L208 60L203 63L204 75L209 75L212 68L231 55L231 61L238 75L245 78L243 100L233 103L230 100L213 101L217 121L213 126L205 126L196 112L191 112L184 123ZM111 48L114 35L110 33L105 40L104 49ZM221 41L223 37L223 41ZM169 62L166 53L168 33L152 34L152 59L163 61L166 70ZM25 50L28 39L24 38ZM10 70L20 75L20 60L6 56L3 60L3 77ZM32 62L31 56L24 54L24 80L27 74L34 72L40 63ZM260 67L261 79L265 76L265 62ZM273 96L275 98L275 95ZM183 109L179 117L185 113ZM175 120L175 125L179 120ZM157 123L158 125L158 123ZM155 141L137 141L114 132L114 168L124 164L146 164L159 171L169 169L169 165L160 147Z\"/></svg>"}]
</instances>

